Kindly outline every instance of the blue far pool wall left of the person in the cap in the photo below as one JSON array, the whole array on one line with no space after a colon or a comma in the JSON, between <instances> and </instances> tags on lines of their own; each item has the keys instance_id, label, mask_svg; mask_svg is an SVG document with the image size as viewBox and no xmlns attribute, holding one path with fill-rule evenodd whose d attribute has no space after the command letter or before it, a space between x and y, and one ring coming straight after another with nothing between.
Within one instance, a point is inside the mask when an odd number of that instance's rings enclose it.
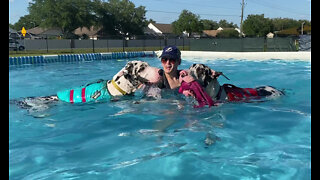
<instances>
[{"instance_id":1,"label":"blue far pool wall left of the person in the cap","mask_svg":"<svg viewBox=\"0 0 320 180\"><path fill-rule=\"evenodd\" d=\"M23 64L93 61L93 60L125 59L125 58L154 57L154 56L155 56L155 53L153 51L20 56L20 57L9 57L9 66L23 65Z\"/></svg>"}]
</instances>

